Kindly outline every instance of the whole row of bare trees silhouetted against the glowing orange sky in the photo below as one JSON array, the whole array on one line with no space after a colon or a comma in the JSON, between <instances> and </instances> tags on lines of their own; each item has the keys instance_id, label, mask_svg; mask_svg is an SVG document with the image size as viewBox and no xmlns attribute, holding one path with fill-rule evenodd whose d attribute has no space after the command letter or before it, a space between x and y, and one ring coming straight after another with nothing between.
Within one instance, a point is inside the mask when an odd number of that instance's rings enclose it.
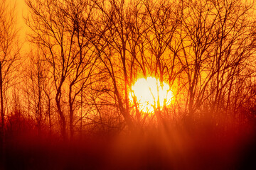
<instances>
[{"instance_id":1,"label":"whole row of bare trees silhouetted against the glowing orange sky","mask_svg":"<svg viewBox=\"0 0 256 170\"><path fill-rule=\"evenodd\" d=\"M13 17L5 17L1 4L3 133L18 125L17 119L39 135L53 132L65 140L180 121L207 120L225 126L255 118L252 3L26 0L26 4L31 52L24 56L18 55ZM20 61L21 65L15 64ZM133 101L129 98L132 85L142 77L167 82L174 96L171 105L162 109L156 101L153 114L142 113L136 96Z\"/></svg>"}]
</instances>

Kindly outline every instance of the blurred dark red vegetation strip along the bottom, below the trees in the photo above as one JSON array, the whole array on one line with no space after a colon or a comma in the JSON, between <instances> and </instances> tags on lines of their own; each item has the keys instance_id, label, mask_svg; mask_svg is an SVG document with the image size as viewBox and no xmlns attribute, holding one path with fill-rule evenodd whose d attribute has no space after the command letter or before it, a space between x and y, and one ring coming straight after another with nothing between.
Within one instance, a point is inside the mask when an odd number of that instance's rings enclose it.
<instances>
[{"instance_id":1,"label":"blurred dark red vegetation strip along the bottom, below the trees","mask_svg":"<svg viewBox=\"0 0 256 170\"><path fill-rule=\"evenodd\" d=\"M23 122L6 130L1 169L255 169L255 125L182 120L63 141Z\"/></svg>"}]
</instances>

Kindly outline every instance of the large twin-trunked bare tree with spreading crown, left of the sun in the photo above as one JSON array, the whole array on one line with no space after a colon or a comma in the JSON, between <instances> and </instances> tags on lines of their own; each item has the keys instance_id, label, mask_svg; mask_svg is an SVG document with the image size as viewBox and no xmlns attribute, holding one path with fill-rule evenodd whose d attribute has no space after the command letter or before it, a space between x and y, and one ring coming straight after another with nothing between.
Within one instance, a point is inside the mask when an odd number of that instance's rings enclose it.
<instances>
[{"instance_id":1,"label":"large twin-trunked bare tree with spreading crown, left of the sun","mask_svg":"<svg viewBox=\"0 0 256 170\"><path fill-rule=\"evenodd\" d=\"M61 120L61 134L66 138L67 117L63 111L68 86L70 135L73 137L74 103L85 88L96 62L89 44L89 1L27 1L31 18L27 19L33 33L31 40L47 50L55 84L55 102ZM82 77L83 75L83 77ZM78 86L82 81L83 83Z\"/></svg>"}]
</instances>

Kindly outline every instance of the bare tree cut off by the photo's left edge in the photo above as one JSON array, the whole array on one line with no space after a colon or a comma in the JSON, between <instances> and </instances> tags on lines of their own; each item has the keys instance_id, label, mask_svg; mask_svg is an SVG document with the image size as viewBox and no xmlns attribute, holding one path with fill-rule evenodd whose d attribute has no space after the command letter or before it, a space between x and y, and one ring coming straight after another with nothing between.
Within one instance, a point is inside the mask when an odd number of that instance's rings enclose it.
<instances>
[{"instance_id":1,"label":"bare tree cut off by the photo's left edge","mask_svg":"<svg viewBox=\"0 0 256 170\"><path fill-rule=\"evenodd\" d=\"M5 108L4 94L14 78L15 62L19 56L15 6L8 1L0 2L0 99L1 99L1 139L4 140Z\"/></svg>"}]
</instances>

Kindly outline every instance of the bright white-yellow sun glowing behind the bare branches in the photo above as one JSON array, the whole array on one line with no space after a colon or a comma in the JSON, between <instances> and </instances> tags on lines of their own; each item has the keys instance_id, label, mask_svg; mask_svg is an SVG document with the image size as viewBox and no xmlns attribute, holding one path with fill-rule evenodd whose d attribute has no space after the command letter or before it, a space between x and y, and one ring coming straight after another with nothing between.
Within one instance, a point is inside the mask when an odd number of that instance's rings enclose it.
<instances>
[{"instance_id":1,"label":"bright white-yellow sun glowing behind the bare branches","mask_svg":"<svg viewBox=\"0 0 256 170\"><path fill-rule=\"evenodd\" d=\"M138 79L132 86L129 99L134 102L136 98L139 111L144 113L154 113L154 108L162 109L171 103L172 93L170 86L165 82L160 82L154 77Z\"/></svg>"}]
</instances>

